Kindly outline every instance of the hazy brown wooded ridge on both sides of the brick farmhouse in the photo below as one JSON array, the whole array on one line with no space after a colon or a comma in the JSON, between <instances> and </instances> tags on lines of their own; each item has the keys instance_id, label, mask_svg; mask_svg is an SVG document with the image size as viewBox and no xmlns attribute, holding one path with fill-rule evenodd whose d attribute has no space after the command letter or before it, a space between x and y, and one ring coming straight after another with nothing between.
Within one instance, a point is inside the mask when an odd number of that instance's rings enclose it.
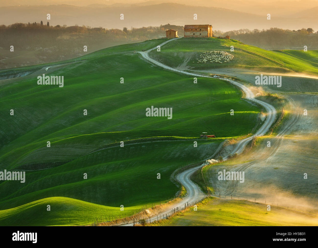
<instances>
[{"instance_id":1,"label":"hazy brown wooded ridge on both sides of the brick farmhouse","mask_svg":"<svg viewBox=\"0 0 318 248\"><path fill-rule=\"evenodd\" d=\"M130 29L92 28L84 25L50 26L49 22L45 25L42 21L0 25L0 69L79 57L86 54L83 51L84 45L88 48L87 52L94 52L115 45L159 39L166 37L165 31L169 29L178 31L179 37L183 37L183 26L169 23ZM264 49L301 49L306 45L308 49L318 50L318 34L312 28L239 29L227 32L213 30L213 35L229 35L231 39ZM14 46L15 51L23 52L24 56L12 59L16 53L10 53L10 46Z\"/></svg>"}]
</instances>

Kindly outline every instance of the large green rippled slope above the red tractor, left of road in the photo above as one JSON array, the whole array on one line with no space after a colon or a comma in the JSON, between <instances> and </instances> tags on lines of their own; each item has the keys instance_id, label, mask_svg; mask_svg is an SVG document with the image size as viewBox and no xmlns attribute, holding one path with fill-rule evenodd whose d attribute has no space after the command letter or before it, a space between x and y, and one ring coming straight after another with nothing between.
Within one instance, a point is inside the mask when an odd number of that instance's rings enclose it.
<instances>
[{"instance_id":1,"label":"large green rippled slope above the red tractor, left of road","mask_svg":"<svg viewBox=\"0 0 318 248\"><path fill-rule=\"evenodd\" d=\"M38 160L65 162L116 140L198 137L207 128L217 137L235 136L249 132L259 112L240 100L240 91L224 81L201 78L193 84L192 78L157 68L138 55L98 57L54 74L64 75L64 87L37 85L36 77L30 75L0 90L1 103L6 106L1 114L7 123L1 127L0 159L8 168ZM121 77L124 84L120 84ZM173 118L147 117L145 110L151 106L172 107ZM236 114L231 116L233 108ZM13 116L10 109L15 111ZM87 115L83 115L84 109ZM98 133L104 134L89 137ZM76 147L72 137L76 137ZM52 143L50 149L47 141ZM61 152L67 145L73 147L72 152ZM45 150L47 161L37 159L38 149ZM52 155L61 158L52 161Z\"/></svg>"}]
</instances>

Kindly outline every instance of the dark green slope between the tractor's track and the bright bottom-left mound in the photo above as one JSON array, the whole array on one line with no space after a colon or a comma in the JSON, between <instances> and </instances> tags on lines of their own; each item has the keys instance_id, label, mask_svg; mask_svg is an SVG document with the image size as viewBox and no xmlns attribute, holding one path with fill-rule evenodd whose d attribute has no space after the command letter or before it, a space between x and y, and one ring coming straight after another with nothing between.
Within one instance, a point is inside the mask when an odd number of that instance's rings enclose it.
<instances>
[{"instance_id":1,"label":"dark green slope between the tractor's track and the bright bottom-left mound","mask_svg":"<svg viewBox=\"0 0 318 248\"><path fill-rule=\"evenodd\" d=\"M211 156L221 140L197 142L197 148L192 140L149 140L124 147L117 143L54 168L26 171L25 183L4 181L0 185L0 209L53 196L135 208L169 199L179 190L170 181L171 173Z\"/></svg>"}]
</instances>

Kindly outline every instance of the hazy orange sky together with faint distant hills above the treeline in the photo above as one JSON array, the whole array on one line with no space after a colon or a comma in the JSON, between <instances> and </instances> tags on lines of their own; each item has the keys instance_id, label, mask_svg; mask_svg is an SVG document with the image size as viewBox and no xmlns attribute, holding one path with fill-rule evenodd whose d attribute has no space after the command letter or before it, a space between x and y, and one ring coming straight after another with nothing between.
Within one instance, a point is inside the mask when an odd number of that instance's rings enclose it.
<instances>
[{"instance_id":1,"label":"hazy orange sky together with faint distant hills above the treeline","mask_svg":"<svg viewBox=\"0 0 318 248\"><path fill-rule=\"evenodd\" d=\"M318 30L318 0L0 0L0 6L0 25L46 21L46 13L50 13L49 22L54 26L183 26L194 24L196 13L197 23L222 31L270 27ZM119 20L121 13L124 20ZM271 14L270 21L267 14Z\"/></svg>"}]
</instances>

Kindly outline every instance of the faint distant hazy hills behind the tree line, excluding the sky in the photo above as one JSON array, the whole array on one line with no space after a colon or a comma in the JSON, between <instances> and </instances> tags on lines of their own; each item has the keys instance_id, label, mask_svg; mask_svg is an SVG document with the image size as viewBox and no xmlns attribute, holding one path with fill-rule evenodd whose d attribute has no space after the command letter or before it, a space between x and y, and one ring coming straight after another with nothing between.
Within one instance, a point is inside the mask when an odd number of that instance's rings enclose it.
<instances>
[{"instance_id":1,"label":"faint distant hazy hills behind the tree line, excluding the sky","mask_svg":"<svg viewBox=\"0 0 318 248\"><path fill-rule=\"evenodd\" d=\"M225 7L231 7L226 6ZM50 25L75 25L78 24L104 27L120 28L160 26L164 23L174 25L185 24L211 24L213 29L234 30L241 28L266 29L270 27L280 27L284 29L301 29L302 27L312 27L318 29L318 17L304 12L303 16L295 18L277 17L272 15L271 20L266 19L266 15L259 12L249 14L230 9L190 6L184 4L163 3L147 6L127 5L116 7L109 5L103 7L81 7L74 5L48 5L48 6L15 6L2 7L0 9L1 24L9 25L15 22L35 22L46 20L47 13L51 14ZM120 14L124 14L124 20L120 20ZM197 20L193 19L193 14L197 14Z\"/></svg>"}]
</instances>

